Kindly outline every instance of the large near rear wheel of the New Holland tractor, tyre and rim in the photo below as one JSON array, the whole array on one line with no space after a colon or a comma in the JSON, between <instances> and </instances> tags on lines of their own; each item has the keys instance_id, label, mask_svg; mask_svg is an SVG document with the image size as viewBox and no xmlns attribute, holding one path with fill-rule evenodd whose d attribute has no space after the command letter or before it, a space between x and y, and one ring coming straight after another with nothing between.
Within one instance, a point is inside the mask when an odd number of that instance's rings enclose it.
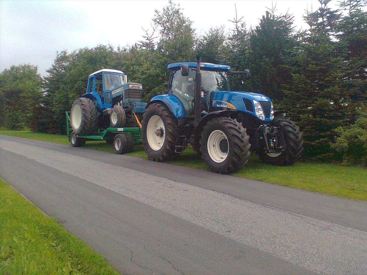
<instances>
[{"instance_id":1,"label":"large near rear wheel of the New Holland tractor, tyre and rim","mask_svg":"<svg viewBox=\"0 0 367 275\"><path fill-rule=\"evenodd\" d=\"M178 136L178 122L166 104L153 103L143 115L142 143L153 161L167 161L175 157L175 142Z\"/></svg>"}]
</instances>

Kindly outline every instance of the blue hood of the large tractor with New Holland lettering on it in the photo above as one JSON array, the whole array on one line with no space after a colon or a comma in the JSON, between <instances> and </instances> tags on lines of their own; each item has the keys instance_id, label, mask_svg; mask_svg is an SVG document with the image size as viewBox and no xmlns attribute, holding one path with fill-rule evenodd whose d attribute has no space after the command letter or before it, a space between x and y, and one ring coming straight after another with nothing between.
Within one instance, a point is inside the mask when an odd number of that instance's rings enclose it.
<instances>
[{"instance_id":1,"label":"blue hood of the large tractor with New Holland lettering on it","mask_svg":"<svg viewBox=\"0 0 367 275\"><path fill-rule=\"evenodd\" d=\"M264 119L256 114L257 103L264 113ZM255 106L256 104L256 106ZM273 104L271 100L261 94L241 91L216 91L212 93L212 107L215 109L231 109L251 113L263 121L271 121ZM259 107L258 107L259 108Z\"/></svg>"}]
</instances>

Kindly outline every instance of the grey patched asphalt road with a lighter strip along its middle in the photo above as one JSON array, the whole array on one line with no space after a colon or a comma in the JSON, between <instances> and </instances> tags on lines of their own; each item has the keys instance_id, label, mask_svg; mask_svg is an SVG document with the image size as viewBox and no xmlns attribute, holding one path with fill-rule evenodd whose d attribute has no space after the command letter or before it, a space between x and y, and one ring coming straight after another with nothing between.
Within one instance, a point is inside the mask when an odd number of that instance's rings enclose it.
<instances>
[{"instance_id":1,"label":"grey patched asphalt road with a lighter strip along its middle","mask_svg":"<svg viewBox=\"0 0 367 275\"><path fill-rule=\"evenodd\" d=\"M122 273L367 273L365 202L3 135L0 175Z\"/></svg>"}]
</instances>

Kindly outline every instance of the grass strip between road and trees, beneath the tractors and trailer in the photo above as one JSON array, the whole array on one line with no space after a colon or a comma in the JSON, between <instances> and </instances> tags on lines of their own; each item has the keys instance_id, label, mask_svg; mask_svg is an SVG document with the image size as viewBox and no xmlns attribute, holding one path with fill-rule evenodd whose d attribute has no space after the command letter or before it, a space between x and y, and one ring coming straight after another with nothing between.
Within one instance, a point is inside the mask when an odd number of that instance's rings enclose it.
<instances>
[{"instance_id":1,"label":"grass strip between road and trees, beneath the tractors and trailer","mask_svg":"<svg viewBox=\"0 0 367 275\"><path fill-rule=\"evenodd\" d=\"M47 135L31 131L0 131L0 133L69 144L67 137L62 135ZM113 147L105 142L87 142L86 147L114 152ZM148 158L142 146L135 146L135 151L128 155ZM208 170L192 147L186 148L178 159L170 161L170 163ZM259 161L257 156L251 155L244 168L233 175L338 197L367 201L367 169L359 166L310 162L297 162L292 166L274 166L264 164Z\"/></svg>"}]
</instances>

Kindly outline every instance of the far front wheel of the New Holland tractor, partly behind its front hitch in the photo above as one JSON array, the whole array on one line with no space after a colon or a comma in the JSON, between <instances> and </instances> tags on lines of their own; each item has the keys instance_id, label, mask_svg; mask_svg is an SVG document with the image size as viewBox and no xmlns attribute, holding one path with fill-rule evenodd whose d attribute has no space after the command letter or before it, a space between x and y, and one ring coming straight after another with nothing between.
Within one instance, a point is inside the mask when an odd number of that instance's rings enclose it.
<instances>
[{"instance_id":1,"label":"far front wheel of the New Holland tractor, partly behind its front hitch","mask_svg":"<svg viewBox=\"0 0 367 275\"><path fill-rule=\"evenodd\" d=\"M274 118L276 126L283 126L283 135L286 140L286 151L282 153L261 152L259 158L261 161L274 165L292 165L300 157L303 151L303 137L299 127L290 120L282 117Z\"/></svg>"}]
</instances>

